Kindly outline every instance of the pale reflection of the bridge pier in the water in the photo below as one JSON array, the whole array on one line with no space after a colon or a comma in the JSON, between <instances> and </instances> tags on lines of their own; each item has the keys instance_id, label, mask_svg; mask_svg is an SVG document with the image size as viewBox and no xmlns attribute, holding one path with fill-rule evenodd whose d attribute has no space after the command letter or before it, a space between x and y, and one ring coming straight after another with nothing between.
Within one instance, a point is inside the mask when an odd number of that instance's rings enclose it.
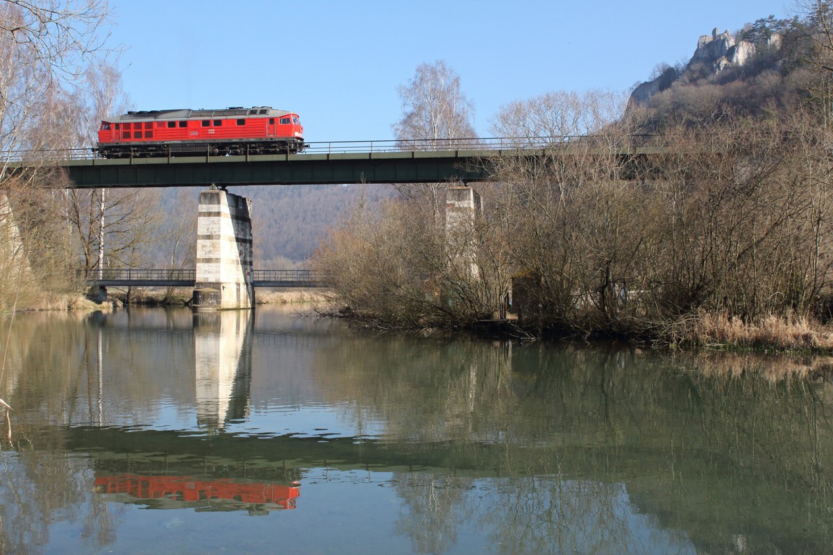
<instances>
[{"instance_id":1,"label":"pale reflection of the bridge pier in the water","mask_svg":"<svg viewBox=\"0 0 833 555\"><path fill-rule=\"evenodd\" d=\"M222 429L248 413L252 381L252 311L196 312L197 424Z\"/></svg>"}]
</instances>

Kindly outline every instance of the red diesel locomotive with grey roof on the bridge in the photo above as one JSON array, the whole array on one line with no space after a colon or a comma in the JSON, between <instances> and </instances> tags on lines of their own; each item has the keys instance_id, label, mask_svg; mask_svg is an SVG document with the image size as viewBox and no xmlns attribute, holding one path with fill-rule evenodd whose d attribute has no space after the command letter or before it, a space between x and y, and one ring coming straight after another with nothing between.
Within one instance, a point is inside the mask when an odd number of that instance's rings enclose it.
<instances>
[{"instance_id":1,"label":"red diesel locomotive with grey roof on the bridge","mask_svg":"<svg viewBox=\"0 0 833 555\"><path fill-rule=\"evenodd\" d=\"M105 158L122 158L295 154L303 148L298 115L261 106L128 111L102 121L92 150Z\"/></svg>"}]
</instances>

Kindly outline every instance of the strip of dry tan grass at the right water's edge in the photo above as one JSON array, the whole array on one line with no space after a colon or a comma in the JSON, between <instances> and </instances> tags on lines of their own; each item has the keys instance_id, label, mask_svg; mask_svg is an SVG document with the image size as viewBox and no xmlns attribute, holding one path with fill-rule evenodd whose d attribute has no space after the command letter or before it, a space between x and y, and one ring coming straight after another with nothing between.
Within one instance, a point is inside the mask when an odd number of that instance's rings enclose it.
<instances>
[{"instance_id":1,"label":"strip of dry tan grass at the right water's edge","mask_svg":"<svg viewBox=\"0 0 833 555\"><path fill-rule=\"evenodd\" d=\"M760 323L746 323L726 315L701 314L684 326L685 344L706 347L741 347L776 350L833 350L833 332L804 317L767 316Z\"/></svg>"}]
</instances>

